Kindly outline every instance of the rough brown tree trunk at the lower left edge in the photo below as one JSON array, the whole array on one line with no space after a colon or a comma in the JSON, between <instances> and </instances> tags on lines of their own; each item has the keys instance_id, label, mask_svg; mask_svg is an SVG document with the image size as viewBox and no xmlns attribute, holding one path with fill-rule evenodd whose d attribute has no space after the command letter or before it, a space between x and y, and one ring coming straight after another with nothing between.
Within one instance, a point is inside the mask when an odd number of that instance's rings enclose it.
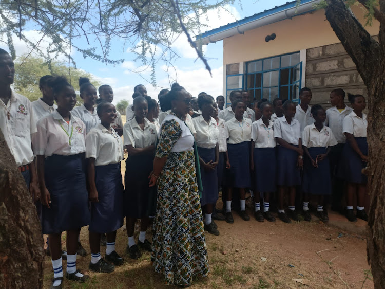
<instances>
[{"instance_id":1,"label":"rough brown tree trunk at the lower left edge","mask_svg":"<svg viewBox=\"0 0 385 289\"><path fill-rule=\"evenodd\" d=\"M36 207L0 131L0 287L43 287L43 236Z\"/></svg>"}]
</instances>

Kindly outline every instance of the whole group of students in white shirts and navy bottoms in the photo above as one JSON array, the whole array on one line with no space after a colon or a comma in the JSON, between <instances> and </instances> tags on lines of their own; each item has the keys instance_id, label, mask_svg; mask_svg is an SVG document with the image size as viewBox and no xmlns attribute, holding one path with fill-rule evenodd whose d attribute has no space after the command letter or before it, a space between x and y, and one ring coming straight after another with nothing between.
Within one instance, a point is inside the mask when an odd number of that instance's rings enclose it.
<instances>
[{"instance_id":1,"label":"whole group of students in white shirts and navy bottoms","mask_svg":"<svg viewBox=\"0 0 385 289\"><path fill-rule=\"evenodd\" d=\"M0 86L4 88L0 96L0 105L4 106L0 128L36 206L42 205L42 231L49 235L54 270L51 288L61 288L63 283L62 231L67 231L65 256L69 280L84 282L89 278L76 269L83 226L89 225L89 269L94 272L112 272L114 266L124 263L115 251L116 232L124 217L129 257L138 259L141 251L153 250L146 231L150 217L157 214L157 189L149 186L149 176L156 170L154 158L162 123L174 117L168 116L172 107L164 104L170 94L168 89L162 89L157 101L147 96L144 85L137 85L133 104L127 107L127 122L123 124L112 104L113 90L109 85L97 90L88 79L81 78L83 104L75 107L76 93L66 78L45 76L40 82L43 96L31 104L10 87L14 66L5 50L0 50L0 61L4 64L0 71ZM171 91L178 91L177 85ZM361 172L368 161L364 97L350 95L350 108L344 104L342 89L335 89L331 93L333 107L326 112L320 105L309 105L309 88L302 88L299 97L299 105L278 98L273 104L262 99L255 101L254 109L249 107L252 104L247 91L232 91L227 108L223 96L215 100L200 93L198 98L189 95L183 100L192 109L182 117L188 133L182 131L179 137L192 134L195 139L197 180L202 185L200 204L207 232L219 235L214 219L234 223L235 193L240 199L241 218L250 219L245 207L247 189L254 193L254 215L259 222L275 222L269 201L277 190L282 221L290 223L289 216L300 220L295 209L296 193L303 194L304 220L311 220L309 200L310 195L316 195L317 215L326 221L324 196L332 194L332 181L339 188L343 181L347 183L348 219L367 220L363 208L367 179ZM183 147L182 138L175 146ZM125 188L120 167L124 148L128 153ZM215 210L220 188L225 216ZM288 215L284 210L286 195ZM333 193L333 204L338 206L340 201L341 189ZM137 219L141 220L138 242L134 240ZM100 250L103 234L104 258Z\"/></svg>"}]
</instances>

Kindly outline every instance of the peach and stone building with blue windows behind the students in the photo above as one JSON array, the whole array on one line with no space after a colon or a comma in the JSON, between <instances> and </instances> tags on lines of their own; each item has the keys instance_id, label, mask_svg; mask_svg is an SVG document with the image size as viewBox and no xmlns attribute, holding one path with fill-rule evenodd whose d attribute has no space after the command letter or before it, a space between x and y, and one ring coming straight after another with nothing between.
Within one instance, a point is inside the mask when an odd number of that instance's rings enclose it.
<instances>
[{"instance_id":1,"label":"peach and stone building with blue windows behind the students","mask_svg":"<svg viewBox=\"0 0 385 289\"><path fill-rule=\"evenodd\" d=\"M328 106L330 92L343 88L366 94L356 66L336 37L319 0L287 2L245 19L204 32L198 45L223 40L223 95L248 89L255 99L279 97L298 102L301 87L312 89L312 103ZM258 4L256 4L258 5ZM365 24L365 9L353 6ZM377 35L379 23L365 27Z\"/></svg>"}]
</instances>

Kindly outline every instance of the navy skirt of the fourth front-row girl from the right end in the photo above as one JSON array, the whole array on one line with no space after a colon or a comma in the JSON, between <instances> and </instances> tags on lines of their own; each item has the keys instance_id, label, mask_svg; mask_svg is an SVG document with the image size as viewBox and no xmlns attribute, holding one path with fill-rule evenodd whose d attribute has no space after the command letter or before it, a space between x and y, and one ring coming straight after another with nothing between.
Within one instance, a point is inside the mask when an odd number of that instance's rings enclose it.
<instances>
[{"instance_id":1,"label":"navy skirt of the fourth front-row girl from the right end","mask_svg":"<svg viewBox=\"0 0 385 289\"><path fill-rule=\"evenodd\" d=\"M254 148L254 179L258 192L275 192L277 189L276 148Z\"/></svg>"}]
</instances>

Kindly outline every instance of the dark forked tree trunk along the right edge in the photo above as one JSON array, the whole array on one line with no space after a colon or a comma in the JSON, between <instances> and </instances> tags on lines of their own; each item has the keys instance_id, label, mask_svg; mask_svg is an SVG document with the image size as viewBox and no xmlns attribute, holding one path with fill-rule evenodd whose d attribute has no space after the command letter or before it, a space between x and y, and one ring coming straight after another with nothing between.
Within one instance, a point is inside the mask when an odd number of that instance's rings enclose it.
<instances>
[{"instance_id":1,"label":"dark forked tree trunk along the right edge","mask_svg":"<svg viewBox=\"0 0 385 289\"><path fill-rule=\"evenodd\" d=\"M385 288L385 23L379 43L358 22L342 0L326 0L326 19L348 52L368 88L368 175L370 209L367 251L376 289ZM360 1L361 3L364 1ZM385 1L379 2L385 12ZM377 13L378 14L378 13ZM383 16L382 14L380 16Z\"/></svg>"}]
</instances>

